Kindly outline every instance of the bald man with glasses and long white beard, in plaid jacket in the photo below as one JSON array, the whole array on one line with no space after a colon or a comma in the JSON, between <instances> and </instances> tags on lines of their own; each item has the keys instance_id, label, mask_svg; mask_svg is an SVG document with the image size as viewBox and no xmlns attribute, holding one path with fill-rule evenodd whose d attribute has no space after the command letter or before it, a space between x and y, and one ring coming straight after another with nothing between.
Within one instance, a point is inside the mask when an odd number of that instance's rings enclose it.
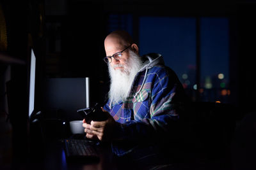
<instances>
[{"instance_id":1,"label":"bald man with glasses and long white beard, in plaid jacket","mask_svg":"<svg viewBox=\"0 0 256 170\"><path fill-rule=\"evenodd\" d=\"M87 138L110 141L118 156L141 148L163 150L177 140L177 122L184 104L184 89L163 57L138 55L139 48L125 31L111 32L104 41L111 85L102 108L108 120L83 120Z\"/></svg>"}]
</instances>

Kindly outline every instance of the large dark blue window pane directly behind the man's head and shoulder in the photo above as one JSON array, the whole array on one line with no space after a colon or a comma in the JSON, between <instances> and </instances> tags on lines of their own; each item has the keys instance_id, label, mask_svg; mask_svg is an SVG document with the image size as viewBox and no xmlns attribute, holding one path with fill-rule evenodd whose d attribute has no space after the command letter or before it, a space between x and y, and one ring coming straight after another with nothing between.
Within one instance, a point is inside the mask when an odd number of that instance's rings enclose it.
<instances>
[{"instance_id":1,"label":"large dark blue window pane directly behind the man's head and shoulder","mask_svg":"<svg viewBox=\"0 0 256 170\"><path fill-rule=\"evenodd\" d=\"M156 52L175 71L188 96L195 97L195 18L140 17L140 54Z\"/></svg>"}]
</instances>

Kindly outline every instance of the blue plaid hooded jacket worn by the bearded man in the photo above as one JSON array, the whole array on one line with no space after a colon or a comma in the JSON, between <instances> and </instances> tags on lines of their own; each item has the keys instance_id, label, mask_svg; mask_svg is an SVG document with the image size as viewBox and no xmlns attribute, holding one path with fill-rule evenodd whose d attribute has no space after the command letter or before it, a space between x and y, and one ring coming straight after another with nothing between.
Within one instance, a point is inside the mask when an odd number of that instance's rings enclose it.
<instances>
[{"instance_id":1,"label":"blue plaid hooded jacket worn by the bearded man","mask_svg":"<svg viewBox=\"0 0 256 170\"><path fill-rule=\"evenodd\" d=\"M153 136L173 131L172 122L179 119L182 110L183 92L176 74L159 62L140 71L126 101L111 103L109 100L104 106L120 123L113 132L113 152L124 155L150 143Z\"/></svg>"}]
</instances>

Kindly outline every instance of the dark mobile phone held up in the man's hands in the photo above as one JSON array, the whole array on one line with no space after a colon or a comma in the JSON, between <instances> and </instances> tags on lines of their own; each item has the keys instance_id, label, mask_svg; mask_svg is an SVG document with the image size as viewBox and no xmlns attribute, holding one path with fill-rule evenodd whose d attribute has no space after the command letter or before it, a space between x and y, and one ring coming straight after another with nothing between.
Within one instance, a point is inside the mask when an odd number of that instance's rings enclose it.
<instances>
[{"instance_id":1,"label":"dark mobile phone held up in the man's hands","mask_svg":"<svg viewBox=\"0 0 256 170\"><path fill-rule=\"evenodd\" d=\"M100 122L108 119L107 114L101 110L98 103L93 108L84 108L77 110L77 112L84 118L87 124L91 124L92 120Z\"/></svg>"}]
</instances>

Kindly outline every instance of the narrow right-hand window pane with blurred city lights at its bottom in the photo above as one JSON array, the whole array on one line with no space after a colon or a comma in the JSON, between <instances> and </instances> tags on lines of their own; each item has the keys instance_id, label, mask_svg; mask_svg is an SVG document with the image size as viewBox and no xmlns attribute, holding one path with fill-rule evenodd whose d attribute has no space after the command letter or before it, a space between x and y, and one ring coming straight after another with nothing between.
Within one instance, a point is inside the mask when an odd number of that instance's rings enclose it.
<instances>
[{"instance_id":1,"label":"narrow right-hand window pane with blurred city lights at its bottom","mask_svg":"<svg viewBox=\"0 0 256 170\"><path fill-rule=\"evenodd\" d=\"M200 100L228 103L227 18L200 19Z\"/></svg>"}]
</instances>

